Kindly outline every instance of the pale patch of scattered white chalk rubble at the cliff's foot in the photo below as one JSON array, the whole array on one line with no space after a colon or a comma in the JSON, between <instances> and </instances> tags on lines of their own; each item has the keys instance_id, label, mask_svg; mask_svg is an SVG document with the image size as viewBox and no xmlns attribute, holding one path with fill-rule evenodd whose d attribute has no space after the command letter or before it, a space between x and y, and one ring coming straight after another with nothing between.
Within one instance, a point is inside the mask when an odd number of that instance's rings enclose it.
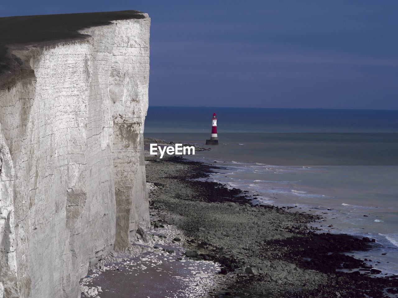
<instances>
[{"instance_id":1,"label":"pale patch of scattered white chalk rubble at the cliff's foot","mask_svg":"<svg viewBox=\"0 0 398 298\"><path fill-rule=\"evenodd\" d=\"M89 269L80 283L82 297L206 296L223 282L220 265L187 258L185 241L182 231L155 221L128 250L113 252Z\"/></svg>"}]
</instances>

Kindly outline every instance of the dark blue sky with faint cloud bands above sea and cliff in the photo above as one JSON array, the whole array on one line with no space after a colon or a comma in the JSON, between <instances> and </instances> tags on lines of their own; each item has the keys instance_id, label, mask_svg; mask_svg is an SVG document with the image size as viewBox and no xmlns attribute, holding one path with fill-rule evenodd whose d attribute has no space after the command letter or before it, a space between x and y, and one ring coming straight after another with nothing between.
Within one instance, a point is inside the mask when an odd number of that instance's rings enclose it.
<instances>
[{"instance_id":1,"label":"dark blue sky with faint cloud bands above sea and cliff","mask_svg":"<svg viewBox=\"0 0 398 298\"><path fill-rule=\"evenodd\" d=\"M398 109L397 1L7 1L149 14L152 106Z\"/></svg>"}]
</instances>

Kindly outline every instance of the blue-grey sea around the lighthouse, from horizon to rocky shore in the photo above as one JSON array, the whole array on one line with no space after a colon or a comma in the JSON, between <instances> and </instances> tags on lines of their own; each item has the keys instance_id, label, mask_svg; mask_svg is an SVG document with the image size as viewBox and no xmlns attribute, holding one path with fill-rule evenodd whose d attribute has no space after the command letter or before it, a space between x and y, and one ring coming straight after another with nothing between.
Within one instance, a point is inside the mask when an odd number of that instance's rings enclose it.
<instances>
[{"instance_id":1,"label":"blue-grey sea around the lighthouse, from horizon to rocky shore","mask_svg":"<svg viewBox=\"0 0 398 298\"><path fill-rule=\"evenodd\" d=\"M213 113L219 145L205 145ZM374 238L348 254L398 275L398 110L150 106L144 137L211 148L184 156L220 167L206 180Z\"/></svg>"}]
</instances>

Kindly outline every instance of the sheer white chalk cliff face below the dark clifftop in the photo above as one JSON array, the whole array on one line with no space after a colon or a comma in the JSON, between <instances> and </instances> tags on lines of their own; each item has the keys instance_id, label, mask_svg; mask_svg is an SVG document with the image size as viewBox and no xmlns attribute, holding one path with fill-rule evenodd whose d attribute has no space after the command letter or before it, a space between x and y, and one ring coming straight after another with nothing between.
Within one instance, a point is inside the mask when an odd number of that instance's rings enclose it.
<instances>
[{"instance_id":1,"label":"sheer white chalk cliff face below the dark clifftop","mask_svg":"<svg viewBox=\"0 0 398 298\"><path fill-rule=\"evenodd\" d=\"M23 75L0 89L0 297L80 297L88 266L148 227L149 27L8 45Z\"/></svg>"}]
</instances>

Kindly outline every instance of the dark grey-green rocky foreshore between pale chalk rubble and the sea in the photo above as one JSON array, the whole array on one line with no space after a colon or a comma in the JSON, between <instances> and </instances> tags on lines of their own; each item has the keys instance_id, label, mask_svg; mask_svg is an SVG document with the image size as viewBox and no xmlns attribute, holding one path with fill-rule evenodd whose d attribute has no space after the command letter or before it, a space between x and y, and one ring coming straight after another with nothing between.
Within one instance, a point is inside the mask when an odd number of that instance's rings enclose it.
<instances>
[{"instance_id":1,"label":"dark grey-green rocky foreshore between pale chalk rubble and the sea","mask_svg":"<svg viewBox=\"0 0 398 298\"><path fill-rule=\"evenodd\" d=\"M218 272L207 275L217 280L207 288L209 297L384 297L384 288L397 292L397 276L380 277L376 268L343 254L370 250L370 239L318 233L307 225L319 216L293 213L293 207L252 205L248 191L193 180L219 166L173 156L146 159L151 218L180 231L181 260L220 264ZM161 232L152 227L148 235Z\"/></svg>"}]
</instances>

